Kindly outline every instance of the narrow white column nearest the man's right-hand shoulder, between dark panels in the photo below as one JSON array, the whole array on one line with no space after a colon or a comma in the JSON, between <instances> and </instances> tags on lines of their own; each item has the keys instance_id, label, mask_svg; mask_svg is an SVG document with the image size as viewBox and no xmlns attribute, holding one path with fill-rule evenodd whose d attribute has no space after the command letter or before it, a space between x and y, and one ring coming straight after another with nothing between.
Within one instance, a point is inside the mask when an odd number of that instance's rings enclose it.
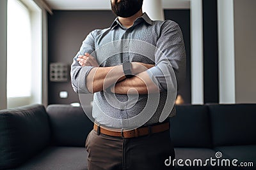
<instances>
[{"instance_id":1,"label":"narrow white column nearest the man's right-hand shoulder, between dark panels","mask_svg":"<svg viewBox=\"0 0 256 170\"><path fill-rule=\"evenodd\" d=\"M204 104L202 0L191 1L191 104Z\"/></svg>"}]
</instances>

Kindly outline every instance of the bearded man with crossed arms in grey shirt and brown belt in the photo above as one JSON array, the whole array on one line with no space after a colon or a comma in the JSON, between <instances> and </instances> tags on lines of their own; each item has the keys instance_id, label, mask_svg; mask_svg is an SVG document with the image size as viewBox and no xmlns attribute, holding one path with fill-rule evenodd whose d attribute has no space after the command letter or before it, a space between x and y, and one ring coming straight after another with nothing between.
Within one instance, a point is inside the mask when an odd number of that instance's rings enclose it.
<instances>
[{"instance_id":1,"label":"bearded man with crossed arms in grey shirt and brown belt","mask_svg":"<svg viewBox=\"0 0 256 170\"><path fill-rule=\"evenodd\" d=\"M175 109L160 120L168 90L185 77L184 42L179 25L150 20L142 4L111 0L117 18L108 29L90 32L74 57L72 87L94 94L95 125L86 139L90 170L171 168L164 160L175 155L168 121Z\"/></svg>"}]
</instances>

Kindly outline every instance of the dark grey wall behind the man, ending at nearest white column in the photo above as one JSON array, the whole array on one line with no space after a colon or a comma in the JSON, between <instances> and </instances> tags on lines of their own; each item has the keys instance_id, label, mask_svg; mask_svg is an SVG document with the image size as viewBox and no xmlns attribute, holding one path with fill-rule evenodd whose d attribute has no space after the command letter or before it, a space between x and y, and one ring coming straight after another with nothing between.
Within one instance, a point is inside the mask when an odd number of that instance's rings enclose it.
<instances>
[{"instance_id":1,"label":"dark grey wall behind the man, ending at nearest white column","mask_svg":"<svg viewBox=\"0 0 256 170\"><path fill-rule=\"evenodd\" d=\"M53 11L53 13L53 15L48 15L49 63L64 62L68 65L72 64L74 55L90 31L109 27L115 19L112 11ZM166 19L175 20L184 34L188 71L186 83L179 93L182 94L186 103L191 103L190 13L189 10L164 10L164 14ZM60 91L67 91L68 98L61 99L59 97ZM92 100L92 96L88 96L88 100ZM49 81L49 104L74 102L79 102L79 98L73 91L70 81L64 83Z\"/></svg>"}]
</instances>

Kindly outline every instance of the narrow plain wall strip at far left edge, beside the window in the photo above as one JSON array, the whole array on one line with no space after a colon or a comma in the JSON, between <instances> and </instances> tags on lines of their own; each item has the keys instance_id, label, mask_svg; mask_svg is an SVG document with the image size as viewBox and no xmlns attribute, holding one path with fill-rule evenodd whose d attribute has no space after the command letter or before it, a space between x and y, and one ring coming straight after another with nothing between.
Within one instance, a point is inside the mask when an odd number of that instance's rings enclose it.
<instances>
[{"instance_id":1,"label":"narrow plain wall strip at far left edge, beside the window","mask_svg":"<svg viewBox=\"0 0 256 170\"><path fill-rule=\"evenodd\" d=\"M6 109L7 0L0 1L0 110Z\"/></svg>"}]
</instances>

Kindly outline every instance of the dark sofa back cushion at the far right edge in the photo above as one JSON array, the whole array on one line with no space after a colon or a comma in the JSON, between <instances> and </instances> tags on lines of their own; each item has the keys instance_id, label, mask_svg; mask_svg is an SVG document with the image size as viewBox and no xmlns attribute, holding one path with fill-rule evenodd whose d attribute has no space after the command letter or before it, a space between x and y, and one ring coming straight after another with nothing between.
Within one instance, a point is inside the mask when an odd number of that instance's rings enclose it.
<instances>
[{"instance_id":1,"label":"dark sofa back cushion at the far right edge","mask_svg":"<svg viewBox=\"0 0 256 170\"><path fill-rule=\"evenodd\" d=\"M210 104L214 146L256 145L256 104Z\"/></svg>"}]
</instances>

